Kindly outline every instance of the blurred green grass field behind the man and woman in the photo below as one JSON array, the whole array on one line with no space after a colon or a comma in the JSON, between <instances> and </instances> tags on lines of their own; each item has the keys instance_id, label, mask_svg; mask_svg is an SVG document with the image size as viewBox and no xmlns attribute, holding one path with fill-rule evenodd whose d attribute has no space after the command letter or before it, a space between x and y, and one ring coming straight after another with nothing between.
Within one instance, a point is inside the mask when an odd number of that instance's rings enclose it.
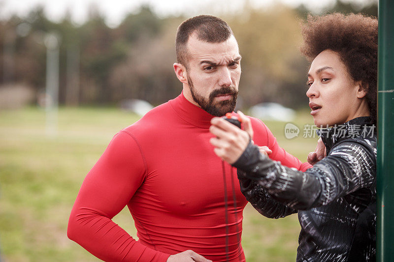
<instances>
[{"instance_id":1,"label":"blurred green grass field behind the man and woman","mask_svg":"<svg viewBox=\"0 0 394 262\"><path fill-rule=\"evenodd\" d=\"M56 136L45 135L38 108L0 111L0 252L2 262L99 261L69 240L69 212L79 187L112 136L138 118L114 108L62 108ZM302 138L311 116L299 112L298 137L284 137L284 122L265 122L287 151L306 161L316 138ZM124 209L114 218L136 236ZM249 262L295 261L296 215L271 220L250 204L244 211L242 245Z\"/></svg>"}]
</instances>

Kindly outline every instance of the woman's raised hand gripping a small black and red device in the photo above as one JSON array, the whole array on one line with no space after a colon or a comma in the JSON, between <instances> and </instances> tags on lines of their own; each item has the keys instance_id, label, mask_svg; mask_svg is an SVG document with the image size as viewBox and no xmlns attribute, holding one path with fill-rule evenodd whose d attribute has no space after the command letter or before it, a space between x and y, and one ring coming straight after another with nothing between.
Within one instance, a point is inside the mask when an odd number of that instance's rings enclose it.
<instances>
[{"instance_id":1,"label":"woman's raised hand gripping a small black and red device","mask_svg":"<svg viewBox=\"0 0 394 262\"><path fill-rule=\"evenodd\" d=\"M253 129L250 119L242 112L237 112L240 116L244 130L229 123L221 117L214 117L211 120L209 131L215 136L210 139L210 143L215 146L214 152L229 164L235 163L242 155L249 141L253 139Z\"/></svg>"}]
</instances>

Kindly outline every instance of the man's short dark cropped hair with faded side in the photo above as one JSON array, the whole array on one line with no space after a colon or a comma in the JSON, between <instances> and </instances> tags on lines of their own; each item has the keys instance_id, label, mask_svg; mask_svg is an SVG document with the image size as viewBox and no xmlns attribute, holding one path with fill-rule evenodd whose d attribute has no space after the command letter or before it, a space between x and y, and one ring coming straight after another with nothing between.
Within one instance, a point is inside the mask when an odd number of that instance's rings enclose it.
<instances>
[{"instance_id":1,"label":"man's short dark cropped hair with faded side","mask_svg":"<svg viewBox=\"0 0 394 262\"><path fill-rule=\"evenodd\" d=\"M176 31L175 52L178 63L187 68L189 36L196 33L197 39L208 43L221 43L233 34L230 26L216 16L199 15L184 21Z\"/></svg>"}]
</instances>

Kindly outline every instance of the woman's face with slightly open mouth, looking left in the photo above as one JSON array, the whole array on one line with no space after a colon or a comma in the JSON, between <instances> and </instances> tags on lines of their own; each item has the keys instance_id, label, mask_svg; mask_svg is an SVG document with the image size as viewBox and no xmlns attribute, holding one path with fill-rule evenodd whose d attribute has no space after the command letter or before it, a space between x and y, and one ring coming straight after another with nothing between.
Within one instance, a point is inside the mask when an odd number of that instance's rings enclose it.
<instances>
[{"instance_id":1,"label":"woman's face with slightly open mouth, looking left","mask_svg":"<svg viewBox=\"0 0 394 262\"><path fill-rule=\"evenodd\" d=\"M306 95L316 126L332 126L369 116L366 102L362 102L365 91L361 82L350 77L337 53L327 49L312 61L307 85Z\"/></svg>"}]
</instances>

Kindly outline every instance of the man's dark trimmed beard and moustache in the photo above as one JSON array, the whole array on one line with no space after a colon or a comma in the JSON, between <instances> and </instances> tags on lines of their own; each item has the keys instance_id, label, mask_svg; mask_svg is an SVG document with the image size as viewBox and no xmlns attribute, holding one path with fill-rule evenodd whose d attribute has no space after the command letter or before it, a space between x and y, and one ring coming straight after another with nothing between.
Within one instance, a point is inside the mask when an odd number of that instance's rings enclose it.
<instances>
[{"instance_id":1,"label":"man's dark trimmed beard and moustache","mask_svg":"<svg viewBox=\"0 0 394 262\"><path fill-rule=\"evenodd\" d=\"M220 89L213 90L209 94L208 99L206 99L203 96L196 93L192 79L190 79L189 74L188 74L188 85L194 101L209 114L213 116L224 116L226 115L226 113L230 113L234 111L235 104L237 102L237 96L238 96L238 90L236 90L234 86L222 87ZM224 94L230 94L232 95L232 98L230 100L214 102L214 99L217 95L224 95Z\"/></svg>"}]
</instances>

